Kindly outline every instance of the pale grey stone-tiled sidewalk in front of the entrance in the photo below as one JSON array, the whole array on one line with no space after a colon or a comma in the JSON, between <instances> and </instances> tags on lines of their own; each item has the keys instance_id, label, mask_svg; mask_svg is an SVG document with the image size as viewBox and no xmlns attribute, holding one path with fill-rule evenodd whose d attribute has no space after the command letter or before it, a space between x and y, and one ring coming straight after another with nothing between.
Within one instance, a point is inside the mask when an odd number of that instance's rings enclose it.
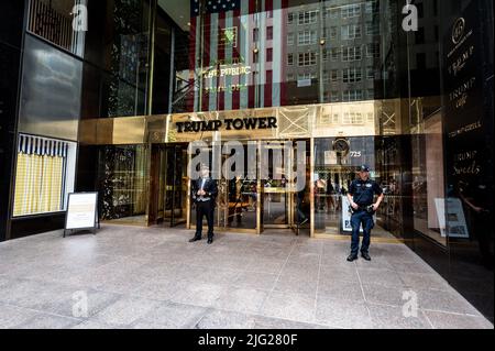
<instances>
[{"instance_id":1,"label":"pale grey stone-tiled sidewalk in front of the entrance","mask_svg":"<svg viewBox=\"0 0 495 351\"><path fill-rule=\"evenodd\" d=\"M1 243L0 328L493 328L403 244L348 263L346 241L190 237L103 226ZM417 317L403 316L408 290Z\"/></svg>"}]
</instances>

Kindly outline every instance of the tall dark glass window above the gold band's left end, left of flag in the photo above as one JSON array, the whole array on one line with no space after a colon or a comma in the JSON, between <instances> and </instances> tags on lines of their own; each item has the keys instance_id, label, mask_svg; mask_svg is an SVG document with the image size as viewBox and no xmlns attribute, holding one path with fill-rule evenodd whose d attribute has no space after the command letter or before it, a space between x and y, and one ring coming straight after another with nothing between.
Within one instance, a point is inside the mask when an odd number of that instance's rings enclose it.
<instances>
[{"instance_id":1,"label":"tall dark glass window above the gold band's left end, left of flag","mask_svg":"<svg viewBox=\"0 0 495 351\"><path fill-rule=\"evenodd\" d=\"M156 91L163 92L160 84L169 85L164 69L163 46L167 45L167 33L156 35L162 43L154 47L157 68L152 69L151 33L153 23L152 1L114 0L88 1L88 31L86 34L84 118L131 117L152 113L152 72L158 81ZM162 29L163 23L156 21ZM167 94L163 92L163 100ZM88 98L90 101L87 101ZM98 108L98 110L96 110ZM155 106L157 113L166 106ZM166 111L165 111L166 112ZM90 114L89 114L90 113ZM89 116L88 116L89 114ZM96 116L95 116L96 114Z\"/></svg>"}]
</instances>

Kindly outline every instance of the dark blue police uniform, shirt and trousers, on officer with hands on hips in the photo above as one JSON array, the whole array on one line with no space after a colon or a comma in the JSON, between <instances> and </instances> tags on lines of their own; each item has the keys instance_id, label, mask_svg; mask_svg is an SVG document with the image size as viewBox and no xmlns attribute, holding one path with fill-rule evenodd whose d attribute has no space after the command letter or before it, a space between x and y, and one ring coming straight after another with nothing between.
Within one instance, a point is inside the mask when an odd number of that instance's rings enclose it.
<instances>
[{"instance_id":1,"label":"dark blue police uniform, shirt and trousers, on officer with hands on hips","mask_svg":"<svg viewBox=\"0 0 495 351\"><path fill-rule=\"evenodd\" d=\"M363 224L363 243L361 245L361 253L367 254L371 243L371 231L375 224L373 220L374 212L370 211L369 207L374 204L373 200L375 195L382 195L383 190L374 180L355 179L351 183L349 194L352 195L353 201L360 207L358 210L354 210L354 213L351 217L351 255L358 255L360 250L361 224Z\"/></svg>"}]
</instances>

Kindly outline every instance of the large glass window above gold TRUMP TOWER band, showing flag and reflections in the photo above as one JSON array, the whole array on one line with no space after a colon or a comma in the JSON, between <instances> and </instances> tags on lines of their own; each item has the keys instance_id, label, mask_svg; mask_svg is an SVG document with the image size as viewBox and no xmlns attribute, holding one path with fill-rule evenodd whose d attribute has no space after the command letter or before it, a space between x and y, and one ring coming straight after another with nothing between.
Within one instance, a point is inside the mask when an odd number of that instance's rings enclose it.
<instances>
[{"instance_id":1,"label":"large glass window above gold TRUMP TOWER band, showing flag and reflections","mask_svg":"<svg viewBox=\"0 0 495 351\"><path fill-rule=\"evenodd\" d=\"M280 2L231 1L226 9L191 4L175 48L176 112L239 110L333 101L373 100L384 96L378 74L394 62L389 36L381 36L380 9L389 1L334 0L282 7ZM180 29L184 20L161 3ZM371 10L372 9L372 10ZM270 14L270 15L267 15ZM331 24L328 19L331 19ZM180 32L180 31L178 31ZM184 34L187 34L186 36ZM388 41L388 42L387 42ZM388 52L387 52L388 51ZM333 75L329 83L330 72ZM345 73L355 73L351 76ZM392 97L392 96L391 96Z\"/></svg>"}]
</instances>

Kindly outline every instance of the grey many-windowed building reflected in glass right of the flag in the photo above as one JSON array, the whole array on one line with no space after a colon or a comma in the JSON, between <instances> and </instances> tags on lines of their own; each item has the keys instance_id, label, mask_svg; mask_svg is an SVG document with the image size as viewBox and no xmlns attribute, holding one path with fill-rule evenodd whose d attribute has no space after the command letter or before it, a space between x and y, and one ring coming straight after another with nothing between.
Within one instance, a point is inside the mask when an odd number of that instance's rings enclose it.
<instances>
[{"instance_id":1,"label":"grey many-windowed building reflected in glass right of the flag","mask_svg":"<svg viewBox=\"0 0 495 351\"><path fill-rule=\"evenodd\" d=\"M286 80L289 95L308 99L295 103L375 99L383 57L378 12L380 1L324 1L288 11Z\"/></svg>"}]
</instances>

